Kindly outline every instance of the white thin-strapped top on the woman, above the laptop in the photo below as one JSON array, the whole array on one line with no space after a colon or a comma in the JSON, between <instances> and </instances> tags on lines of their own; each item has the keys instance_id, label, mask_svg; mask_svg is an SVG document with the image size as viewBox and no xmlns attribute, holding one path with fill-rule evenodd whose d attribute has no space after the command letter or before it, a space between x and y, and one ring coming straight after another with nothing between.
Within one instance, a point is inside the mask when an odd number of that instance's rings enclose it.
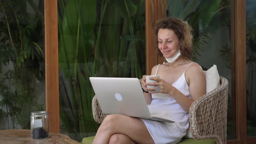
<instances>
[{"instance_id":1,"label":"white thin-strapped top on the woman, above the laptop","mask_svg":"<svg viewBox=\"0 0 256 144\"><path fill-rule=\"evenodd\" d=\"M195 62L192 62L195 63ZM192 64L190 63L187 66L188 67ZM159 68L159 65L158 65ZM156 75L158 73L158 68ZM187 81L185 78L185 72L183 72L181 77L177 79L176 82L172 84L177 90L179 90L183 95L190 97L189 92L189 86L187 85ZM161 75L160 75L161 78ZM179 105L179 103L171 96L167 94L151 94L152 95L152 101L151 104L148 105L149 111L153 117L157 118L164 118L171 121L175 121L175 124L177 124L177 127L180 128L181 131L186 131L188 128L188 118L189 115L186 111L184 111L183 108Z\"/></svg>"}]
</instances>

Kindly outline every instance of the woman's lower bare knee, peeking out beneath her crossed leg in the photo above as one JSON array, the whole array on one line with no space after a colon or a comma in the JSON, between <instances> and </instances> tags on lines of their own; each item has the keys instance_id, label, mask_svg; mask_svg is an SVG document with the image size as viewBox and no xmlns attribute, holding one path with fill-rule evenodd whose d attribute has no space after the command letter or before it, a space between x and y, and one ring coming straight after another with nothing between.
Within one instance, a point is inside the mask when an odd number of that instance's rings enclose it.
<instances>
[{"instance_id":1,"label":"woman's lower bare knee, peeking out beneath her crossed leg","mask_svg":"<svg viewBox=\"0 0 256 144\"><path fill-rule=\"evenodd\" d=\"M108 144L136 144L130 137L125 134L113 134Z\"/></svg>"}]
</instances>

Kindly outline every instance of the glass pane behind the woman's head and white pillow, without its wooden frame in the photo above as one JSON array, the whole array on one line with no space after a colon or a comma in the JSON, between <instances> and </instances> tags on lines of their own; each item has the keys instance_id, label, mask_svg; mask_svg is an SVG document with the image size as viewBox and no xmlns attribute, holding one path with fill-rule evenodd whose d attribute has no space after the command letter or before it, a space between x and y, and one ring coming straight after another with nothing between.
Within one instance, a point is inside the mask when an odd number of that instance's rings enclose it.
<instances>
[{"instance_id":1,"label":"glass pane behind the woman's head and white pillow, without its wooden frame","mask_svg":"<svg viewBox=\"0 0 256 144\"><path fill-rule=\"evenodd\" d=\"M178 17L193 28L192 60L204 70L217 65L220 76L229 81L227 139L236 138L231 105L230 0L167 0L167 17Z\"/></svg>"}]
</instances>

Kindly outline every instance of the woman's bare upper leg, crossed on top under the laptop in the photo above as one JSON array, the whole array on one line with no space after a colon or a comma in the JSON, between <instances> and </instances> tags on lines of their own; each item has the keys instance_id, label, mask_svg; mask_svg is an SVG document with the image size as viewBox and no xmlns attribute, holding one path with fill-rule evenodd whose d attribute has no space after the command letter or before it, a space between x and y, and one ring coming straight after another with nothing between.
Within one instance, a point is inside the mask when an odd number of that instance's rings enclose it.
<instances>
[{"instance_id":1,"label":"woman's bare upper leg, crossed on top under the laptop","mask_svg":"<svg viewBox=\"0 0 256 144\"><path fill-rule=\"evenodd\" d=\"M124 134L140 144L154 144L144 122L140 118L125 115L107 115L92 144L108 144L113 134Z\"/></svg>"}]
</instances>

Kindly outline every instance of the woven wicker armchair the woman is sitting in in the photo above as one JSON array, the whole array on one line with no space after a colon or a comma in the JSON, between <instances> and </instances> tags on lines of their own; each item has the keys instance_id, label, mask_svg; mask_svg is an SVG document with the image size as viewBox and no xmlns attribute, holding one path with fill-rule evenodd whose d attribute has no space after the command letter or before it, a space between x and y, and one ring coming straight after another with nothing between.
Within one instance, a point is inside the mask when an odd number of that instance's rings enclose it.
<instances>
[{"instance_id":1,"label":"woven wicker armchair the woman is sitting in","mask_svg":"<svg viewBox=\"0 0 256 144\"><path fill-rule=\"evenodd\" d=\"M214 138L217 144L226 144L228 81L220 76L220 86L194 101L190 107L190 131L194 139ZM98 105L97 97L92 99L93 118L99 124L106 114Z\"/></svg>"}]
</instances>

